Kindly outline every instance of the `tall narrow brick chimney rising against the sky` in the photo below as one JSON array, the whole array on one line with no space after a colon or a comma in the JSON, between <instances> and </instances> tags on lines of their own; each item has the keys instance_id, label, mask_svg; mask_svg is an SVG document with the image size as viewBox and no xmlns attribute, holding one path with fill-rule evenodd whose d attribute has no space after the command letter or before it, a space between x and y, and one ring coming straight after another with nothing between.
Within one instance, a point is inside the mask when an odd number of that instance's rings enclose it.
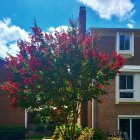
<instances>
[{"instance_id":1,"label":"tall narrow brick chimney rising against the sky","mask_svg":"<svg viewBox=\"0 0 140 140\"><path fill-rule=\"evenodd\" d=\"M86 7L80 6L79 27L83 35L86 34Z\"/></svg>"}]
</instances>

